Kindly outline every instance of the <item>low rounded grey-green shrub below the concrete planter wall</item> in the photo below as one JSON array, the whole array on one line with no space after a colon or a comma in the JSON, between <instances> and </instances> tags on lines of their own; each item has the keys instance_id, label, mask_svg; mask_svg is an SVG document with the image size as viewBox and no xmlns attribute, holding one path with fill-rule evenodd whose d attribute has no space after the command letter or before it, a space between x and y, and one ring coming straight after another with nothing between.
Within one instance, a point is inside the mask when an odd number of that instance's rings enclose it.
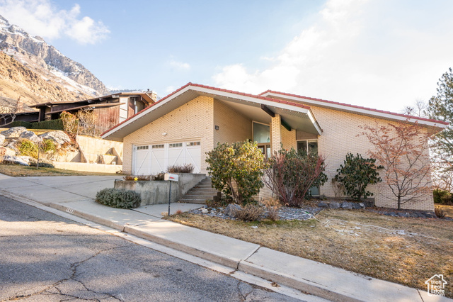
<instances>
[{"instance_id":1,"label":"low rounded grey-green shrub below the concrete planter wall","mask_svg":"<svg viewBox=\"0 0 453 302\"><path fill-rule=\"evenodd\" d=\"M108 188L98 191L96 202L113 208L137 208L141 198L135 191Z\"/></svg>"}]
</instances>

